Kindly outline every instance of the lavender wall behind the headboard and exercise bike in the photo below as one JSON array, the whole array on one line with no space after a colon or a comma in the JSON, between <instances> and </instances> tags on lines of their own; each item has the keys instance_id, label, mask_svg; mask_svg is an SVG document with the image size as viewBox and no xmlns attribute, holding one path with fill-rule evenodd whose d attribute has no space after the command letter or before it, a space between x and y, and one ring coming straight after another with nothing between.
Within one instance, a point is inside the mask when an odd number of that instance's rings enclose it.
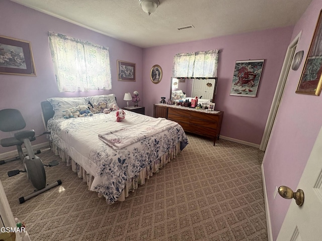
<instances>
[{"instance_id":1,"label":"lavender wall behind the headboard and exercise bike","mask_svg":"<svg viewBox=\"0 0 322 241\"><path fill-rule=\"evenodd\" d=\"M91 30L70 24L58 18L37 12L8 0L0 1L0 35L31 42L37 76L0 75L0 109L18 108L24 115L28 129L37 134L44 132L41 119L40 102L48 97L89 96L115 93L119 106L126 106L125 92L143 91L142 61L143 50L139 47L107 37ZM109 48L112 90L92 90L89 92L59 93L56 87L53 64L48 46L48 31L61 33L77 39L86 40ZM136 63L136 82L117 81L116 61ZM142 97L142 96L141 96ZM141 98L142 103L144 98ZM0 139L10 136L0 132ZM38 138L33 144L45 142ZM15 150L2 148L0 153Z\"/></svg>"}]
</instances>

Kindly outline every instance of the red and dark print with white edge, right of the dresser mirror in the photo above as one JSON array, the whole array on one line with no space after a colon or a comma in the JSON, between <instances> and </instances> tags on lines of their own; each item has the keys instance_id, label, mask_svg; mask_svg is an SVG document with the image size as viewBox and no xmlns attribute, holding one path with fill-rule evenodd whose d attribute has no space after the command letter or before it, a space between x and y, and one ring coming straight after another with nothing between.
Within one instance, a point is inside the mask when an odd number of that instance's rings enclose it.
<instances>
[{"instance_id":1,"label":"red and dark print with white edge, right of the dresser mirror","mask_svg":"<svg viewBox=\"0 0 322 241\"><path fill-rule=\"evenodd\" d=\"M264 59L236 61L230 95L256 97Z\"/></svg>"}]
</instances>

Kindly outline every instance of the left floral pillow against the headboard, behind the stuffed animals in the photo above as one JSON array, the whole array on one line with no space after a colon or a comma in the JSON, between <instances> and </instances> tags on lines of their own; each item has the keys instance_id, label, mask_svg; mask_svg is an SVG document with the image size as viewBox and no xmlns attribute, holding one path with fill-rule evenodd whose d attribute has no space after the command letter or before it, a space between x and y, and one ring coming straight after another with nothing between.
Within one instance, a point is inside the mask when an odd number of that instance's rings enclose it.
<instances>
[{"instance_id":1,"label":"left floral pillow against the headboard, behind the stuffed animals","mask_svg":"<svg viewBox=\"0 0 322 241\"><path fill-rule=\"evenodd\" d=\"M63 117L63 110L69 109L71 107L77 107L78 105L88 105L89 99L87 97L66 97L66 98L48 98L54 110L53 118Z\"/></svg>"}]
</instances>

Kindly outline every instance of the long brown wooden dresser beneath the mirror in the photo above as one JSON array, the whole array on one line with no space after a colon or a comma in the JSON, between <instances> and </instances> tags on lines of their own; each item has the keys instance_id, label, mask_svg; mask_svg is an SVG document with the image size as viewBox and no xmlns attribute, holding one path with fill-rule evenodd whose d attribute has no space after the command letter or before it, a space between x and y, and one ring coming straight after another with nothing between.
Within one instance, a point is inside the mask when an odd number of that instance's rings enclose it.
<instances>
[{"instance_id":1,"label":"long brown wooden dresser beneath the mirror","mask_svg":"<svg viewBox=\"0 0 322 241\"><path fill-rule=\"evenodd\" d=\"M207 111L167 104L154 104L153 110L153 117L171 119L180 124L185 132L213 138L213 145L219 138L223 111Z\"/></svg>"}]
</instances>

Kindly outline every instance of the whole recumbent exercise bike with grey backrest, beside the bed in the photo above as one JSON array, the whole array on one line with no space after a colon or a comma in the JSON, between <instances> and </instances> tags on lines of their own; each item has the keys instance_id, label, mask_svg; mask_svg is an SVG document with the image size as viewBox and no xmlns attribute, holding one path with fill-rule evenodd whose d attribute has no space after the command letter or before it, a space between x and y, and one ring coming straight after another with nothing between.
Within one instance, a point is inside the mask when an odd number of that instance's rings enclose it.
<instances>
[{"instance_id":1,"label":"whole recumbent exercise bike with grey backrest, beside the bed","mask_svg":"<svg viewBox=\"0 0 322 241\"><path fill-rule=\"evenodd\" d=\"M26 127L24 117L18 109L2 109L0 110L0 130L3 132L19 131L14 134L14 137L4 138L0 140L0 144L3 147L17 146L19 157L23 161L24 170L13 170L8 172L8 176L12 177L20 172L26 172L28 179L37 191L19 198L19 202L23 203L28 199L43 193L50 188L58 186L61 181L58 180L51 185L46 186L46 172L44 166L52 167L58 165L56 160L49 162L48 165L42 163L42 160L37 157L31 146L31 142L36 140L36 137L50 134L50 132L44 132L39 136L35 136L35 131L20 131ZM24 155L22 151L22 144L25 145L28 155Z\"/></svg>"}]
</instances>

